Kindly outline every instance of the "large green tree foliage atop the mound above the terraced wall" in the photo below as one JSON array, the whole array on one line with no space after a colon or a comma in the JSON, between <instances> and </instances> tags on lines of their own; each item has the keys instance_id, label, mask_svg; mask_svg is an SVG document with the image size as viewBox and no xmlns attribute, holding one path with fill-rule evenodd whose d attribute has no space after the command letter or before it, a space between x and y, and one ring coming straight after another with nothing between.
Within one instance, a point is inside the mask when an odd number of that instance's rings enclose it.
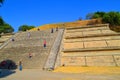
<instances>
[{"instance_id":1,"label":"large green tree foliage atop the mound above the terraced wall","mask_svg":"<svg viewBox=\"0 0 120 80\"><path fill-rule=\"evenodd\" d=\"M111 26L120 26L120 12L95 12L88 13L87 19L102 18L103 23L109 23Z\"/></svg>"}]
</instances>

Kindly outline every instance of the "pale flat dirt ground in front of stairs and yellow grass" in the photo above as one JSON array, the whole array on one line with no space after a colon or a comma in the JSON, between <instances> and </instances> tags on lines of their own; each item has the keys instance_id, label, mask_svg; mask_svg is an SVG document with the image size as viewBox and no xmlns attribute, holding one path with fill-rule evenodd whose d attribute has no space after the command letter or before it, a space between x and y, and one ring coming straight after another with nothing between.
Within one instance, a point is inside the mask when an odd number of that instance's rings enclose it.
<instances>
[{"instance_id":1,"label":"pale flat dirt ground in front of stairs and yellow grass","mask_svg":"<svg viewBox=\"0 0 120 80\"><path fill-rule=\"evenodd\" d=\"M119 80L120 74L68 74L26 69L16 71L14 74L0 78L0 80Z\"/></svg>"}]
</instances>

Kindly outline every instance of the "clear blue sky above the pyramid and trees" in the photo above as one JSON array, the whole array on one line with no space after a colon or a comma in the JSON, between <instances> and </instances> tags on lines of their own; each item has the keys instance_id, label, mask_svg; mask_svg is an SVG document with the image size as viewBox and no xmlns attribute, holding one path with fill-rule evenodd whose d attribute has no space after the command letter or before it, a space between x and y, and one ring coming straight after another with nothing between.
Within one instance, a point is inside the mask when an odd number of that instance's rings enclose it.
<instances>
[{"instance_id":1,"label":"clear blue sky above the pyramid and trees","mask_svg":"<svg viewBox=\"0 0 120 80\"><path fill-rule=\"evenodd\" d=\"M16 32L23 24L72 22L96 11L120 11L120 0L5 0L0 16Z\"/></svg>"}]
</instances>

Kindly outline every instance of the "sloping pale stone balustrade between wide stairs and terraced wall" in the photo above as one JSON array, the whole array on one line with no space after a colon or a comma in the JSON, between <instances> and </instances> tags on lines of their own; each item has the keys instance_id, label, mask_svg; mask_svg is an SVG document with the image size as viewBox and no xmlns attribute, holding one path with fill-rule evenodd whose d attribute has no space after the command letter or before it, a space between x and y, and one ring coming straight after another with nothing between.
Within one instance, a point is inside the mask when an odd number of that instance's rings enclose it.
<instances>
[{"instance_id":1,"label":"sloping pale stone balustrade between wide stairs and terraced wall","mask_svg":"<svg viewBox=\"0 0 120 80\"><path fill-rule=\"evenodd\" d=\"M56 62L56 59L57 59L62 34L63 34L63 30L61 29L61 30L59 30L59 33L58 33L58 35L55 39L55 42L54 42L54 44L51 48L49 57L46 61L46 64L44 65L45 70L53 70L54 67L55 67L55 62Z\"/></svg>"}]
</instances>

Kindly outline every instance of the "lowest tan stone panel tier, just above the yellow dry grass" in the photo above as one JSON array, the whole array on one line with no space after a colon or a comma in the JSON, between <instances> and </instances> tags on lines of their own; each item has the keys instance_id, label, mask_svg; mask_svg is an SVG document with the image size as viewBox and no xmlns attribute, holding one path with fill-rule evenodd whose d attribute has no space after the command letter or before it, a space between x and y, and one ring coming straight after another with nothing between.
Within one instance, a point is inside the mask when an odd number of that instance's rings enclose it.
<instances>
[{"instance_id":1,"label":"lowest tan stone panel tier, just above the yellow dry grass","mask_svg":"<svg viewBox=\"0 0 120 80\"><path fill-rule=\"evenodd\" d=\"M120 66L118 55L63 56L61 66Z\"/></svg>"}]
</instances>

